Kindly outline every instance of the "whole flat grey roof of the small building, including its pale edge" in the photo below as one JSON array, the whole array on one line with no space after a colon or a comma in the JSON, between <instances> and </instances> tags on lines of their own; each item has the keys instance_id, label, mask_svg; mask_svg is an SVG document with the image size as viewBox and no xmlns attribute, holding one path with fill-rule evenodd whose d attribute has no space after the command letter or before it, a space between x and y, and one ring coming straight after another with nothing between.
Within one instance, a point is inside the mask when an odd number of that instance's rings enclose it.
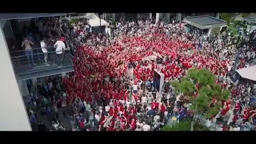
<instances>
[{"instance_id":1,"label":"whole flat grey roof of the small building, including its pale edge","mask_svg":"<svg viewBox=\"0 0 256 144\"><path fill-rule=\"evenodd\" d=\"M198 27L199 29L226 26L226 21L211 17L209 15L187 17L184 18L183 21L189 23L192 26Z\"/></svg>"}]
</instances>

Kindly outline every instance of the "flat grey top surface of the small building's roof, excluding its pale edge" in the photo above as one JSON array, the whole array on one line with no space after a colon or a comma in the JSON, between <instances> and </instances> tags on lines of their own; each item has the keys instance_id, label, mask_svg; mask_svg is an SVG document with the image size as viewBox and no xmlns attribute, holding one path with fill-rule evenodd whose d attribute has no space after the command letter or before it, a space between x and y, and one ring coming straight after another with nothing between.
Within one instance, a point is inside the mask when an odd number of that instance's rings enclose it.
<instances>
[{"instance_id":1,"label":"flat grey top surface of the small building's roof, excluding its pale edge","mask_svg":"<svg viewBox=\"0 0 256 144\"><path fill-rule=\"evenodd\" d=\"M211 17L209 15L189 17L189 18L186 18L186 19L191 21L191 22L198 23L202 26L219 24L219 23L226 23L226 21L223 21L222 19L214 18L214 17Z\"/></svg>"}]
</instances>

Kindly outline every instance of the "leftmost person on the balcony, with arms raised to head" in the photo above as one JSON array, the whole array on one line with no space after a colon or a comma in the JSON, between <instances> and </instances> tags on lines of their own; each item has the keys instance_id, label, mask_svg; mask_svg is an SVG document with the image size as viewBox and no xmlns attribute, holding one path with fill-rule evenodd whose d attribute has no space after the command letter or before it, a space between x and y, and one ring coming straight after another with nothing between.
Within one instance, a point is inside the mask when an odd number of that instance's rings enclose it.
<instances>
[{"instance_id":1,"label":"leftmost person on the balcony, with arms raised to head","mask_svg":"<svg viewBox=\"0 0 256 144\"><path fill-rule=\"evenodd\" d=\"M32 45L34 45L34 43L31 42L28 38L24 38L24 40L22 41L22 47L25 47L25 50L26 50L25 54L26 54L26 58L29 62L29 65L30 65L30 58L34 65Z\"/></svg>"}]
</instances>

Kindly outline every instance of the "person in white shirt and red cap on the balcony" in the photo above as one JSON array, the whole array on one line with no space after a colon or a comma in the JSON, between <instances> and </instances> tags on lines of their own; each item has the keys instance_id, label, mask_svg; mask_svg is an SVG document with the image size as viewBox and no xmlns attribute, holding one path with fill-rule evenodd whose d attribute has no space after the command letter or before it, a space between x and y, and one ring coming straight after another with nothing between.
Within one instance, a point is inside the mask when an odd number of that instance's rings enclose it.
<instances>
[{"instance_id":1,"label":"person in white shirt and red cap on the balcony","mask_svg":"<svg viewBox=\"0 0 256 144\"><path fill-rule=\"evenodd\" d=\"M58 66L60 66L62 64L62 58L63 58L63 51L64 50L68 50L65 46L65 38L62 37L60 38L55 44L54 44L54 48L56 49L56 54L57 54L57 62L58 62Z\"/></svg>"}]
</instances>

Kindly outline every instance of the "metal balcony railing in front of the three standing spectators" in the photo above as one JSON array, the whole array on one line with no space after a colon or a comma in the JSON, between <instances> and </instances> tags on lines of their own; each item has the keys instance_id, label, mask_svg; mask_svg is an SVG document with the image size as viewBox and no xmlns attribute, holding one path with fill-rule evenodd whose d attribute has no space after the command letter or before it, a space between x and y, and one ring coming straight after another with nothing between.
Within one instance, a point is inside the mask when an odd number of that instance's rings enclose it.
<instances>
[{"instance_id":1,"label":"metal balcony railing in front of the three standing spectators","mask_svg":"<svg viewBox=\"0 0 256 144\"><path fill-rule=\"evenodd\" d=\"M27 74L50 69L58 69L66 66L73 66L73 62L70 58L70 50L63 50L61 56L56 54L54 47L48 47L47 50L47 62L45 62L45 54L42 53L41 48L12 52L11 59L15 73Z\"/></svg>"}]
</instances>

